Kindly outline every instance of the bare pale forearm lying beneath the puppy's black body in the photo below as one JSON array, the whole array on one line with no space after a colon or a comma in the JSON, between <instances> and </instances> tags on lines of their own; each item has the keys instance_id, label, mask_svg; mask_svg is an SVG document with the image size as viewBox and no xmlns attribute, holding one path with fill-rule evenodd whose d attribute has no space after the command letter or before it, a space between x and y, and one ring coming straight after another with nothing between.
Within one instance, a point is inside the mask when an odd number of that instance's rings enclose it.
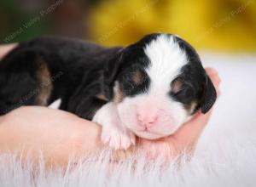
<instances>
[{"instance_id":1,"label":"bare pale forearm lying beneath the puppy's black body","mask_svg":"<svg viewBox=\"0 0 256 187\"><path fill-rule=\"evenodd\" d=\"M65 119L56 122L55 119L61 118ZM65 165L70 156L84 156L102 149L100 132L101 127L95 123L64 111L23 107L1 116L0 153L22 153L37 158L41 151L47 163Z\"/></svg>"}]
</instances>

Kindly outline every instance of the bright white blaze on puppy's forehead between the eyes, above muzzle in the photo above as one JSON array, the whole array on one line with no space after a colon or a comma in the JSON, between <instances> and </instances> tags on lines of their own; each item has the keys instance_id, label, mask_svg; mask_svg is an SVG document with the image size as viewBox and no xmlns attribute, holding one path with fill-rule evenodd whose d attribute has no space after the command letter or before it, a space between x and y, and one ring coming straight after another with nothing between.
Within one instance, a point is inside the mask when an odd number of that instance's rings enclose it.
<instances>
[{"instance_id":1,"label":"bright white blaze on puppy's forehead between the eyes, above muzzle","mask_svg":"<svg viewBox=\"0 0 256 187\"><path fill-rule=\"evenodd\" d=\"M174 37L160 35L144 49L150 65L147 73L151 80L151 92L169 91L170 80L177 77L183 65L188 63L186 54L179 48Z\"/></svg>"}]
</instances>

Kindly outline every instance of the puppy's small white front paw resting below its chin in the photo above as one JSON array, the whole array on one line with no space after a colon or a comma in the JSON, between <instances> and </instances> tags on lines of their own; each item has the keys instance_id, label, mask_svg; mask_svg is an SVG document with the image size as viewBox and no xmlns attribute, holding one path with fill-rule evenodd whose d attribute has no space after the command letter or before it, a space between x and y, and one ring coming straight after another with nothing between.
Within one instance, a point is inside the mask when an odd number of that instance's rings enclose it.
<instances>
[{"instance_id":1,"label":"puppy's small white front paw resting below its chin","mask_svg":"<svg viewBox=\"0 0 256 187\"><path fill-rule=\"evenodd\" d=\"M131 144L135 144L135 135L128 129L121 127L102 127L102 142L115 150L127 150Z\"/></svg>"}]
</instances>

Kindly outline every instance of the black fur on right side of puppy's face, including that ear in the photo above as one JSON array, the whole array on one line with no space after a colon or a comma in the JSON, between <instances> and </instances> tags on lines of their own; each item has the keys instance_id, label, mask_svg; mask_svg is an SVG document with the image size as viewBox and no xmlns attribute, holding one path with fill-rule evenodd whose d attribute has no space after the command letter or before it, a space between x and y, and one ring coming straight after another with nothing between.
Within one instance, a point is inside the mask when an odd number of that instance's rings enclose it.
<instances>
[{"instance_id":1,"label":"black fur on right side of puppy's face, including that ear","mask_svg":"<svg viewBox=\"0 0 256 187\"><path fill-rule=\"evenodd\" d=\"M180 48L186 52L188 64L183 66L179 76L183 80L183 91L173 96L185 106L196 102L195 111L201 108L202 113L205 114L217 99L216 90L207 76L195 48L179 37L176 37L176 40Z\"/></svg>"}]
</instances>

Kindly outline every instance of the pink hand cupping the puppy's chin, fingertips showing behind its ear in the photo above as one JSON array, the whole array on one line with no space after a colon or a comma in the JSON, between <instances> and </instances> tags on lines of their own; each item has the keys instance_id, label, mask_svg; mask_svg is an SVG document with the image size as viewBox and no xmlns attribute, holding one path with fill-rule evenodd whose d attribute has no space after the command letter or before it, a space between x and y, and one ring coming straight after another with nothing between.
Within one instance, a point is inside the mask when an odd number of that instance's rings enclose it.
<instances>
[{"instance_id":1,"label":"pink hand cupping the puppy's chin, fingertips showing behind its ear","mask_svg":"<svg viewBox=\"0 0 256 187\"><path fill-rule=\"evenodd\" d=\"M218 72L212 68L206 68L206 71L219 96L220 92L218 87L220 78L218 77ZM183 126L171 136L154 141L139 139L139 146L151 159L154 159L157 156L164 156L168 160L175 156L179 156L183 151L191 153L195 149L197 140L200 138L211 115L212 110L208 111L205 115L199 111L189 120L189 122L185 122Z\"/></svg>"}]
</instances>

